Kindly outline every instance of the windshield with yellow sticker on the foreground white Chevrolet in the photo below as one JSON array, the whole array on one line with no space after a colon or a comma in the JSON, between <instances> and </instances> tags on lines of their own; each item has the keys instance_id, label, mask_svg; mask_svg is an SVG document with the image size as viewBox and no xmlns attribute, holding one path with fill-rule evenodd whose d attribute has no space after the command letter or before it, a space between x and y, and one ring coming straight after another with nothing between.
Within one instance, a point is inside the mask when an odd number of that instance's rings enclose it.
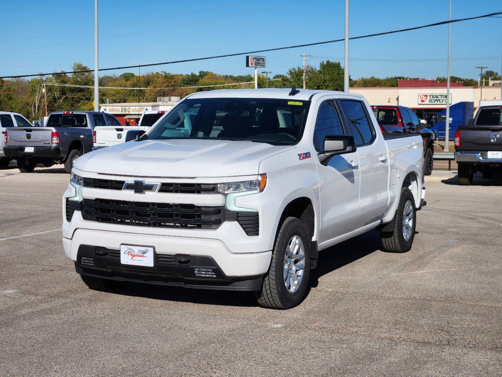
<instances>
[{"instance_id":1,"label":"windshield with yellow sticker on the foreground white Chevrolet","mask_svg":"<svg viewBox=\"0 0 502 377\"><path fill-rule=\"evenodd\" d=\"M148 140L224 139L290 145L300 140L309 101L187 99L148 134Z\"/></svg>"}]
</instances>

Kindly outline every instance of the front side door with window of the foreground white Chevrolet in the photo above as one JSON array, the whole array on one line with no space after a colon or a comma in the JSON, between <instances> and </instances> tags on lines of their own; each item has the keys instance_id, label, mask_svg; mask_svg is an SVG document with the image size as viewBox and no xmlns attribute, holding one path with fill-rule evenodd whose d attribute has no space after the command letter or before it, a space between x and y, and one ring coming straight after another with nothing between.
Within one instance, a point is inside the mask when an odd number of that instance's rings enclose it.
<instances>
[{"instance_id":1,"label":"front side door with window of the foreground white Chevrolet","mask_svg":"<svg viewBox=\"0 0 502 377\"><path fill-rule=\"evenodd\" d=\"M324 100L319 106L313 143L320 153L326 136L347 135L335 102ZM317 164L320 200L319 243L356 229L359 217L359 161L357 152L332 156Z\"/></svg>"}]
</instances>

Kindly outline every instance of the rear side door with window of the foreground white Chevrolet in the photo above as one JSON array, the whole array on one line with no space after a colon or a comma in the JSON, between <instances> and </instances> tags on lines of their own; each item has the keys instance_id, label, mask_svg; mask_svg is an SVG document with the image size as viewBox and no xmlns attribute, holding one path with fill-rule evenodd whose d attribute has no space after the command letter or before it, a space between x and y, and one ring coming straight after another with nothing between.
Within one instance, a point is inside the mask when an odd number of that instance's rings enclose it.
<instances>
[{"instance_id":1,"label":"rear side door with window of the foreground white Chevrolet","mask_svg":"<svg viewBox=\"0 0 502 377\"><path fill-rule=\"evenodd\" d=\"M359 219L356 229L382 219L389 204L389 155L381 133L377 134L369 108L358 100L338 100L355 138L359 155Z\"/></svg>"}]
</instances>

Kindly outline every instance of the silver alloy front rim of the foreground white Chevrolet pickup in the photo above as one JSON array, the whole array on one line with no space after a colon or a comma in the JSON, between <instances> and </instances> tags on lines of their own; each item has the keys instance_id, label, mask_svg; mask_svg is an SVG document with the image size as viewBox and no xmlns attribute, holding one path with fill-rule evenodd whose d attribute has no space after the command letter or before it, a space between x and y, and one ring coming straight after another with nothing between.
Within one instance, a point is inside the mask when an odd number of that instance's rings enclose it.
<instances>
[{"instance_id":1,"label":"silver alloy front rim of the foreground white Chevrolet pickup","mask_svg":"<svg viewBox=\"0 0 502 377\"><path fill-rule=\"evenodd\" d=\"M302 282L305 271L305 249L302 239L294 235L288 242L284 252L284 285L286 289L295 293Z\"/></svg>"}]
</instances>

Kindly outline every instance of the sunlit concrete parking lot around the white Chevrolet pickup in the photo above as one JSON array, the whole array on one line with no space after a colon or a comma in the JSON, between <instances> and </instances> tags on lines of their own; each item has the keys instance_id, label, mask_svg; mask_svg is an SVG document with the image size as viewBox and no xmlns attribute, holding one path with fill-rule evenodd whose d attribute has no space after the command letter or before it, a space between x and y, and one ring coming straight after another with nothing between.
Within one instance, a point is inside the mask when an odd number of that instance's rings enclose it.
<instances>
[{"instance_id":1,"label":"sunlit concrete parking lot around the white Chevrolet pickup","mask_svg":"<svg viewBox=\"0 0 502 377\"><path fill-rule=\"evenodd\" d=\"M61 244L68 180L0 170L2 376L502 375L500 181L427 182L410 252L374 231L324 250L306 300L274 311L248 293L89 290Z\"/></svg>"}]
</instances>

